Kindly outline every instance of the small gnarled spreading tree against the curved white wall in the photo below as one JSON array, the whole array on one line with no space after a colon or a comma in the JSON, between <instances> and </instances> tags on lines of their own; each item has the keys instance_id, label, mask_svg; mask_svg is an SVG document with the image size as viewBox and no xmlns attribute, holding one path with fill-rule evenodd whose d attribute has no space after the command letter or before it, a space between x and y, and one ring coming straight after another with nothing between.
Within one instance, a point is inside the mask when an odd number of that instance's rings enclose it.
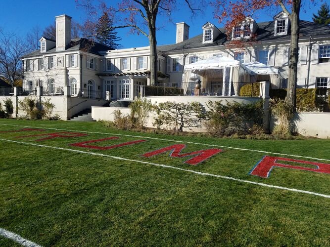
<instances>
[{"instance_id":1,"label":"small gnarled spreading tree against the curved white wall","mask_svg":"<svg viewBox=\"0 0 330 247\"><path fill-rule=\"evenodd\" d=\"M205 118L205 108L199 102L176 103L167 101L156 107L154 125L160 128L163 125L173 127L175 131L183 128L201 127L201 120Z\"/></svg>"}]
</instances>

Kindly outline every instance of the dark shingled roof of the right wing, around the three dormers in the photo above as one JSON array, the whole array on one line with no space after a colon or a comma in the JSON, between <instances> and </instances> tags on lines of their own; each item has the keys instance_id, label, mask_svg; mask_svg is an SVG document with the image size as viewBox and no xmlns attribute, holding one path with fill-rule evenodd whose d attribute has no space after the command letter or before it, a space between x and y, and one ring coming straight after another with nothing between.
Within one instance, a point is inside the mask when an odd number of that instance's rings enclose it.
<instances>
[{"instance_id":1,"label":"dark shingled roof of the right wing, around the three dormers","mask_svg":"<svg viewBox=\"0 0 330 247\"><path fill-rule=\"evenodd\" d=\"M258 29L256 31L255 41L286 41L290 40L290 33L287 35L274 36L274 21L261 22L257 23ZM219 28L221 34L216 38L213 43L204 43L203 44L203 34L197 35L186 41L182 41L176 44L168 45L159 45L157 49L160 51L176 51L182 49L190 48L200 48L200 47L209 47L223 45L227 40L226 30L224 28ZM330 35L330 26L325 26L323 24L317 24L310 21L300 21L300 34L305 37L310 35L319 36L319 35Z\"/></svg>"}]
</instances>

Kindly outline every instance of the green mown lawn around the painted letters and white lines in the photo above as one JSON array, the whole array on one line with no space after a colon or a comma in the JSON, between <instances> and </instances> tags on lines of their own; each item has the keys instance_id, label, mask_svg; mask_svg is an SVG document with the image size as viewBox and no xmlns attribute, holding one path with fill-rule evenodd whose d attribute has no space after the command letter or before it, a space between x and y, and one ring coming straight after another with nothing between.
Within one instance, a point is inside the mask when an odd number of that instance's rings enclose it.
<instances>
[{"instance_id":1,"label":"green mown lawn around the painted letters and white lines","mask_svg":"<svg viewBox=\"0 0 330 247\"><path fill-rule=\"evenodd\" d=\"M182 144L173 141L176 140L330 160L330 140L156 135L114 130L101 123L62 121L0 120L0 131L22 128L1 124L104 133L44 141L36 141L43 137L16 137L64 130L0 133L1 139L25 142L0 140L0 228L39 245L330 246L330 198L171 167L29 145L81 150L330 195L330 174L286 168L274 168L269 178L249 174L265 155L326 164L330 161L192 143L187 143L183 153L210 148L221 148L223 152L198 165L184 163L192 157L173 158L169 152L150 158L141 156ZM145 142L111 150L69 146L116 136L105 133L168 140L144 138ZM117 137L91 145L108 146L143 139ZM0 237L0 246L13 245L13 241Z\"/></svg>"}]
</instances>

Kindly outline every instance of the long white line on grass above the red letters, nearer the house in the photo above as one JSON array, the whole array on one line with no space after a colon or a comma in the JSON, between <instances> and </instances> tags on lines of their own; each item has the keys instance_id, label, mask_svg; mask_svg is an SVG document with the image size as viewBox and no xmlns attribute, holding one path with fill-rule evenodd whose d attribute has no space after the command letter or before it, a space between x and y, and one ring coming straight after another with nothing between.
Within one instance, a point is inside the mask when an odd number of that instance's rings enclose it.
<instances>
[{"instance_id":1,"label":"long white line on grass above the red letters, nearer the house","mask_svg":"<svg viewBox=\"0 0 330 247\"><path fill-rule=\"evenodd\" d=\"M254 149L246 149L246 148L236 148L236 147L230 147L230 146L222 146L222 145L206 144L206 143L198 143L198 142L189 142L189 141L178 141L178 140L171 140L171 139L161 139L161 138L148 137L148 136L139 136L139 135L103 133L103 132L93 132L93 131L84 131L84 130L74 130L74 129L64 129L64 128L47 128L47 127L25 126L25 125L15 125L15 124L0 124L0 125L18 126L18 127L29 127L29 128L31 128L31 127L33 127L33 128L45 128L45 129L54 129L54 130L65 130L65 131L76 131L76 132L84 132L84 133L91 133L91 134L105 134L105 135L129 136L129 137L146 138L146 139L160 140L160 141L173 141L173 142L179 142L179 143L189 143L189 144L204 145L204 146L211 146L211 147L230 148L230 149L236 149L236 150L242 150L242 151L251 151L251 152L258 152L258 153L264 153L264 154L267 153L267 154L274 154L274 155L283 155L283 156L290 156L290 157L296 157L296 158L305 158L305 159L318 160L318 161L330 161L330 160L327 160L327 159L320 159L320 158L314 158L314 157L308 157L308 156L291 155L291 154L281 154L281 153L275 153L275 152L269 152L269 151L262 151L262 150L254 150Z\"/></svg>"}]
</instances>

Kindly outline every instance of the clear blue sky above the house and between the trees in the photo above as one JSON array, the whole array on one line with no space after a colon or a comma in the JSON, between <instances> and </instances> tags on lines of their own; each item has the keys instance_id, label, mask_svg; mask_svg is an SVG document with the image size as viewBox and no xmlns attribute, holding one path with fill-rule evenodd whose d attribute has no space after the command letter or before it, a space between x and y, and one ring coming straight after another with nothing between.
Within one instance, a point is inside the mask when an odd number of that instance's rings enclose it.
<instances>
[{"instance_id":1,"label":"clear blue sky above the house and between the trees","mask_svg":"<svg viewBox=\"0 0 330 247\"><path fill-rule=\"evenodd\" d=\"M112 4L116 4L119 0L108 0ZM330 0L324 0L330 3ZM312 13L316 13L322 2L316 0L316 6L309 4L309 0L305 0L306 6L301 11L302 20L312 20ZM77 22L83 22L85 13L82 9L77 8L74 0L0 0L1 15L0 28L6 32L14 32L19 36L25 36L26 33L34 26L39 26L44 29L54 21L54 16L67 14ZM276 14L275 11L257 13L255 19L257 22L270 21ZM176 22L186 22L190 26L189 37L201 34L201 26L210 21L218 27L224 25L219 24L213 19L211 7L206 7L202 14L197 14L191 17L191 14L186 7L178 7L173 14L173 23L167 18L159 16L159 24L163 26L157 31L158 44L170 44L175 42ZM132 35L129 29L118 30L119 36L122 38L119 43L127 47L138 47L148 45L148 40L145 36Z\"/></svg>"}]
</instances>

